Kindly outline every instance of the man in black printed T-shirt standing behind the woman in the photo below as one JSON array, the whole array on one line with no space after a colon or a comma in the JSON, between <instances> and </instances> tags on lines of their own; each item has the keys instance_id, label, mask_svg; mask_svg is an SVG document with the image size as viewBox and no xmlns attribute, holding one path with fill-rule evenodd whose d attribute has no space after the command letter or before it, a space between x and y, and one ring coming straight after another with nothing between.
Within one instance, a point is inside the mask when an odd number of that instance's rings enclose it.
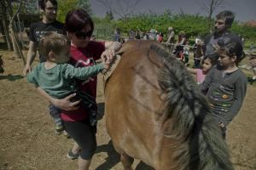
<instances>
[{"instance_id":1,"label":"man in black printed T-shirt standing behind the woman","mask_svg":"<svg viewBox=\"0 0 256 170\"><path fill-rule=\"evenodd\" d=\"M45 32L55 31L60 34L64 34L63 24L56 20L57 16L57 1L56 0L39 0L40 11L43 14L43 20L36 23L32 23L29 31L29 48L26 58L26 66L23 74L26 76L30 72L31 65L38 50L38 42L44 37ZM39 54L40 61L45 59Z\"/></svg>"}]
</instances>

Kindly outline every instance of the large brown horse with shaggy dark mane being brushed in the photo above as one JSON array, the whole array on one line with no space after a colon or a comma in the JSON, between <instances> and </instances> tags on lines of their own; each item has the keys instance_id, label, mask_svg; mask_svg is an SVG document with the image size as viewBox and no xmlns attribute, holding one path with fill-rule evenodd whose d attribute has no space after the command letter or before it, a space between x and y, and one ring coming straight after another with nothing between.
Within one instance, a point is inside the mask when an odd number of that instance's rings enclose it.
<instances>
[{"instance_id":1,"label":"large brown horse with shaggy dark mane being brushed","mask_svg":"<svg viewBox=\"0 0 256 170\"><path fill-rule=\"evenodd\" d=\"M125 170L137 158L155 170L231 170L207 100L181 61L159 42L128 41L105 80L105 116Z\"/></svg>"}]
</instances>

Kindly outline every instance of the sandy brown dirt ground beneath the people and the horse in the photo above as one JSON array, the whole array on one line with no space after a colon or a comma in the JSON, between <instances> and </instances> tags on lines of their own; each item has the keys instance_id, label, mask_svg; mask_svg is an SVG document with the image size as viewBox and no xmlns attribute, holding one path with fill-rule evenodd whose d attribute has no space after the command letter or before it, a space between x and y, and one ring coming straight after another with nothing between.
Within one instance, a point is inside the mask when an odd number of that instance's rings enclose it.
<instances>
[{"instance_id":1,"label":"sandy brown dirt ground beneath the people and the horse","mask_svg":"<svg viewBox=\"0 0 256 170\"><path fill-rule=\"evenodd\" d=\"M15 59L11 52L0 50L0 54L5 62L5 72L0 75L0 169L76 169L77 161L69 160L66 156L73 141L63 135L55 135L47 109L49 103L22 77L22 60ZM102 109L101 81L97 101ZM248 85L242 109L228 127L227 143L236 170L256 169L255 101L256 88ZM110 143L104 118L99 122L97 143L90 169L123 169ZM137 170L149 169L139 161L134 167Z\"/></svg>"}]
</instances>

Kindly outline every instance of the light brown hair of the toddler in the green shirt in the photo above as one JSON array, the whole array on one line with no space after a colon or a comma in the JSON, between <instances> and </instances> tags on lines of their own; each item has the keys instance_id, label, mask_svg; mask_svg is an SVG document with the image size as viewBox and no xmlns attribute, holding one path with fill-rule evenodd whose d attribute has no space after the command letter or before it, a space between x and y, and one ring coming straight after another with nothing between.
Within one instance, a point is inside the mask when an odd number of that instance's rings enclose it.
<instances>
[{"instance_id":1,"label":"light brown hair of the toddler in the green shirt","mask_svg":"<svg viewBox=\"0 0 256 170\"><path fill-rule=\"evenodd\" d=\"M60 54L63 48L68 48L69 45L70 42L66 36L55 32L46 32L39 42L39 52L44 59L48 59L50 51Z\"/></svg>"}]
</instances>

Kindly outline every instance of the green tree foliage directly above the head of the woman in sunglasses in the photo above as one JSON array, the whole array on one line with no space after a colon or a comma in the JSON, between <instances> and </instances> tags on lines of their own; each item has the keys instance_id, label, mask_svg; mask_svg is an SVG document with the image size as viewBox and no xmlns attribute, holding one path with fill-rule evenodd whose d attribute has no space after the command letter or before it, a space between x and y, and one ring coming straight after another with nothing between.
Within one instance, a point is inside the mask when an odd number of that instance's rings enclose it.
<instances>
[{"instance_id":1,"label":"green tree foliage directly above the head of the woman in sunglasses","mask_svg":"<svg viewBox=\"0 0 256 170\"><path fill-rule=\"evenodd\" d=\"M83 8L88 14L91 14L89 0L58 0L57 20L64 22L68 11L74 8Z\"/></svg>"}]
</instances>

